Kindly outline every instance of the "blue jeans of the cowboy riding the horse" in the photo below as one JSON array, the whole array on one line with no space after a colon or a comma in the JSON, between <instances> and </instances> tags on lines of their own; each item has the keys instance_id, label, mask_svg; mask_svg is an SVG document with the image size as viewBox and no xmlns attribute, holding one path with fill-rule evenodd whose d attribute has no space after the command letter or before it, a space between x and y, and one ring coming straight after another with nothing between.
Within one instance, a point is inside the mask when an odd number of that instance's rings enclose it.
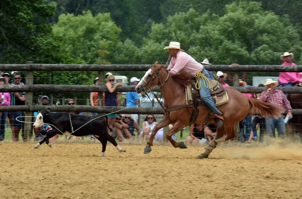
<instances>
[{"instance_id":1,"label":"blue jeans of the cowboy riding the horse","mask_svg":"<svg viewBox=\"0 0 302 199\"><path fill-rule=\"evenodd\" d=\"M206 78L210 78L209 77L209 72L206 69L203 69L203 74L205 75ZM221 112L218 111L218 109L216 108L216 105L213 101L213 99L210 96L210 89L206 88L204 86L204 82L203 80L200 78L200 89L199 89L199 94L201 99L204 101L204 103L206 104L206 106L214 113L214 114L218 114L221 115Z\"/></svg>"}]
</instances>

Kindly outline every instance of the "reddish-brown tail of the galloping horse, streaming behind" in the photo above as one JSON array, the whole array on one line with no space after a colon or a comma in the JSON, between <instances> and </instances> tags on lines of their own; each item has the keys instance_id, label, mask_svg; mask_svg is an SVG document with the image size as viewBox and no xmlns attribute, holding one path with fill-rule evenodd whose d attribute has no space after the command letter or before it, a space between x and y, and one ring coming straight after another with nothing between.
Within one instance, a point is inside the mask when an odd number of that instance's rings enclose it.
<instances>
[{"instance_id":1,"label":"reddish-brown tail of the galloping horse, streaming behind","mask_svg":"<svg viewBox=\"0 0 302 199\"><path fill-rule=\"evenodd\" d=\"M284 112L282 108L274 104L262 102L260 100L249 97L250 112L249 115L262 115L265 118L278 118Z\"/></svg>"}]
</instances>

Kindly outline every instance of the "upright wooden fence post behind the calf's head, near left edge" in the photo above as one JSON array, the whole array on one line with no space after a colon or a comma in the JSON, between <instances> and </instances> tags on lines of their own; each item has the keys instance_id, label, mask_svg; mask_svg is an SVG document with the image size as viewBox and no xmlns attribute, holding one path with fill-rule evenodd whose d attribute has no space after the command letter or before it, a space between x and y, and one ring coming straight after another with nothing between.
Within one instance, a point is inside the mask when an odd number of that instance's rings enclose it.
<instances>
[{"instance_id":1,"label":"upright wooden fence post behind the calf's head, near left edge","mask_svg":"<svg viewBox=\"0 0 302 199\"><path fill-rule=\"evenodd\" d=\"M27 62L27 64L32 64L33 62ZM26 72L26 85L34 84L34 73L33 71L27 71ZM33 105L33 92L26 92L25 94L25 105ZM25 134L25 140L30 140L32 137L32 112L25 112L25 124L24 124L24 134Z\"/></svg>"}]
</instances>

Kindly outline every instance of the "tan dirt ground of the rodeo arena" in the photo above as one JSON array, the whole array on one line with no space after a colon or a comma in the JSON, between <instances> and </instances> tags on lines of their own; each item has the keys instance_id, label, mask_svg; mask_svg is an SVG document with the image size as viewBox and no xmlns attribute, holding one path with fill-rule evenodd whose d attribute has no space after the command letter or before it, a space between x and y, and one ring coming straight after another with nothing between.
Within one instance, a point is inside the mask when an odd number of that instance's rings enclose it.
<instances>
[{"instance_id":1,"label":"tan dirt ground of the rodeo arena","mask_svg":"<svg viewBox=\"0 0 302 199\"><path fill-rule=\"evenodd\" d=\"M0 143L0 198L302 198L302 147Z\"/></svg>"}]
</instances>

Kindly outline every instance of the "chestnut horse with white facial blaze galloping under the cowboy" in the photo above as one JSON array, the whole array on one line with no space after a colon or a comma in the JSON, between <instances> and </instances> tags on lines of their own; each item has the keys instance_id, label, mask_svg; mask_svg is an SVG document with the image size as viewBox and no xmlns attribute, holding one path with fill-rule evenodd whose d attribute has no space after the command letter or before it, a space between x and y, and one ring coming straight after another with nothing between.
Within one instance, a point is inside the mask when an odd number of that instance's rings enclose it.
<instances>
[{"instance_id":1,"label":"chestnut horse with white facial blaze galloping under the cowboy","mask_svg":"<svg viewBox=\"0 0 302 199\"><path fill-rule=\"evenodd\" d=\"M163 66L164 65L158 65L156 62L153 67L145 73L143 78L135 87L137 93L140 93L143 89L151 90L153 87L158 85L161 89L166 108L185 105L185 88L183 84L179 82L181 78L188 74L182 72L183 75L176 75L172 78L169 75L168 70L164 69ZM187 78L187 80L190 79ZM207 158L217 144L235 138L235 124L243 120L248 114L263 115L265 117L279 117L283 112L282 109L273 104L246 97L236 89L230 87L226 87L225 89L229 95L229 102L217 107L224 117L223 126L221 128L217 128L215 139L211 141L205 148L205 151L199 154L196 158ZM193 107L185 107L169 111L169 114L165 112L165 116L162 121L153 128L152 134L144 149L144 153L149 153L151 151L151 146L153 146L153 140L158 130L173 123L173 127L167 132L167 139L175 148L187 148L183 141L179 143L172 139L172 135L190 124L189 120L192 111ZM204 123L207 115L208 111L205 108L199 109L199 114L194 123ZM210 123L214 122L215 121L212 119ZM226 132L225 135L224 132Z\"/></svg>"}]
</instances>

